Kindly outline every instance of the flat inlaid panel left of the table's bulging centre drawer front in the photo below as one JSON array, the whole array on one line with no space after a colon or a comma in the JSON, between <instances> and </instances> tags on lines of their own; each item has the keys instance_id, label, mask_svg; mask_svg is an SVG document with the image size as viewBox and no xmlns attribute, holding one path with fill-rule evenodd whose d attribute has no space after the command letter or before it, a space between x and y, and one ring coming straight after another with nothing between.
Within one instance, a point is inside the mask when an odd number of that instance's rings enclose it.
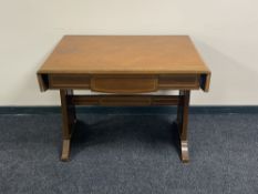
<instances>
[{"instance_id":1,"label":"flat inlaid panel left of the table's bulging centre drawer front","mask_svg":"<svg viewBox=\"0 0 258 194\"><path fill-rule=\"evenodd\" d=\"M52 89L89 89L91 79L89 75L65 75L51 74L49 75L50 88Z\"/></svg>"}]
</instances>

